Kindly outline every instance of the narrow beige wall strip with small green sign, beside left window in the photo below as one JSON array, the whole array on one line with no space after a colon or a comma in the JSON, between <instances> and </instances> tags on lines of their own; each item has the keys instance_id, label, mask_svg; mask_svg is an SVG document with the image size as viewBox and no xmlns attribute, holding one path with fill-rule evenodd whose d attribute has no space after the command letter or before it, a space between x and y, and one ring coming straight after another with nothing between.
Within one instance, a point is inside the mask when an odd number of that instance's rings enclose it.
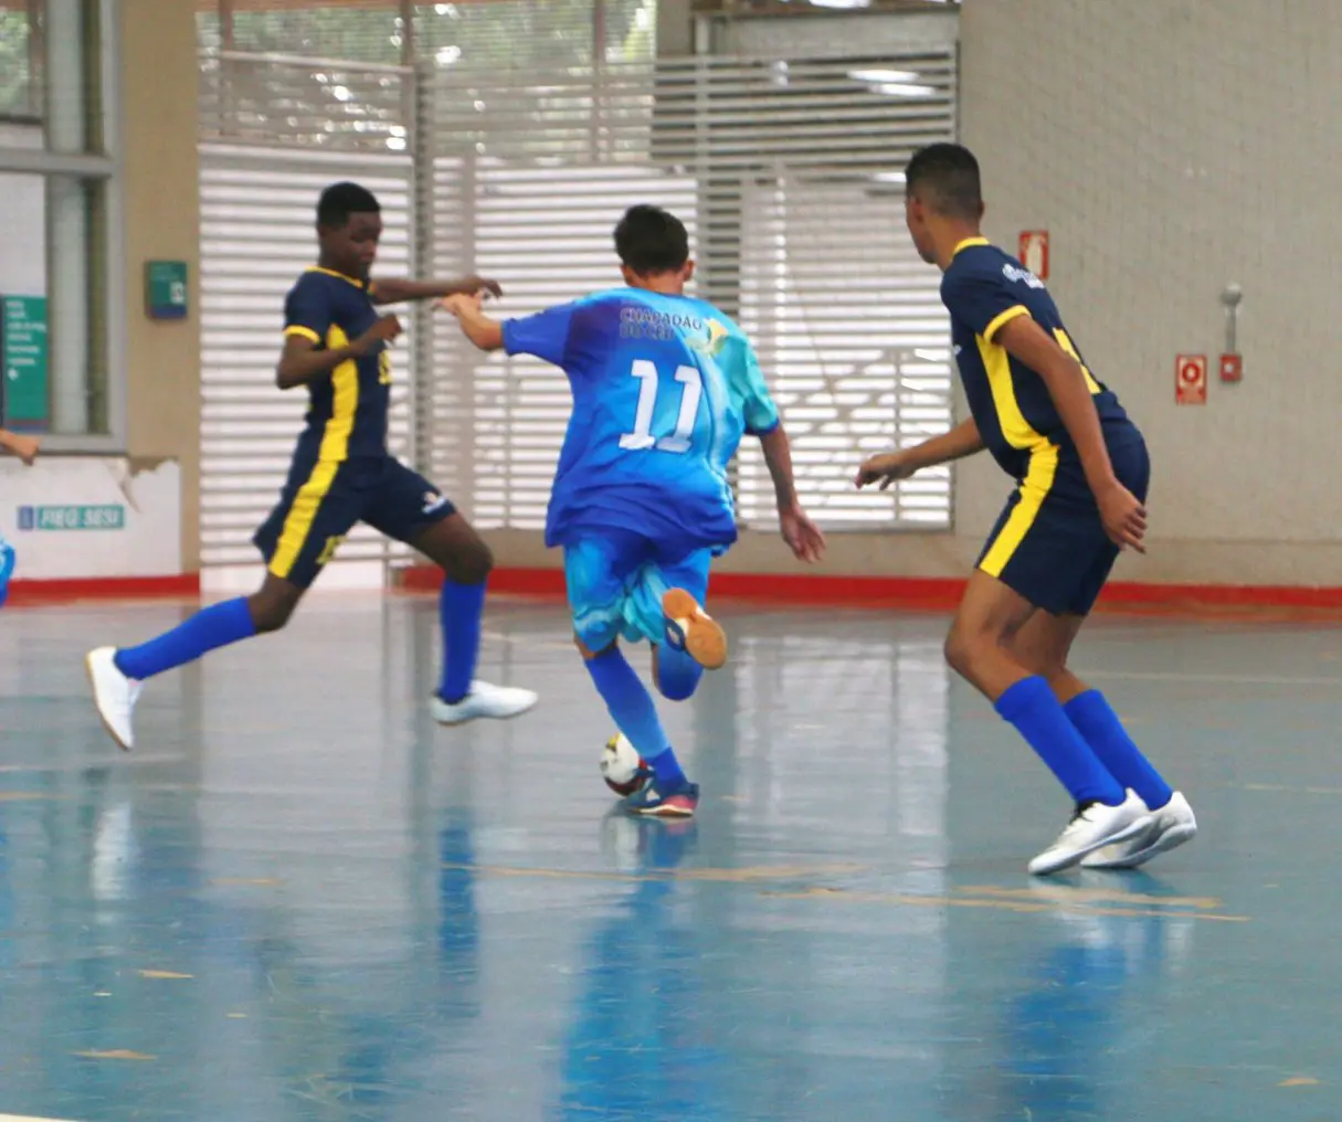
<instances>
[{"instance_id":1,"label":"narrow beige wall strip with small green sign, beside left window","mask_svg":"<svg viewBox=\"0 0 1342 1122\"><path fill-rule=\"evenodd\" d=\"M127 447L133 459L181 464L181 550L200 557L200 187L196 156L196 16L191 4L121 3L121 149L126 271ZM144 313L146 260L184 260L191 315Z\"/></svg>"}]
</instances>

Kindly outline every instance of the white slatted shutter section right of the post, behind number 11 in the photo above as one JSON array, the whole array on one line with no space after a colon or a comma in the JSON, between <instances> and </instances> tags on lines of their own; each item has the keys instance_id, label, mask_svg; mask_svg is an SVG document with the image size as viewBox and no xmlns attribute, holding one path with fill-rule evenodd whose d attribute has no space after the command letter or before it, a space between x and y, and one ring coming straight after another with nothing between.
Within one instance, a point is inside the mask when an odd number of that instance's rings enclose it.
<instances>
[{"instance_id":1,"label":"white slatted shutter section right of the post, behind number 11","mask_svg":"<svg viewBox=\"0 0 1342 1122\"><path fill-rule=\"evenodd\" d=\"M439 271L472 263L526 314L617 283L611 231L659 203L695 231L701 295L753 337L792 434L801 495L831 527L937 527L950 475L858 493L872 451L945 432L949 329L939 274L903 225L899 169L954 133L954 51L794 62L442 71L433 90ZM475 358L435 332L427 387L439 478L484 526L535 529L569 413L560 372ZM470 392L466 387L471 387ZM774 525L756 442L737 476L745 525Z\"/></svg>"}]
</instances>

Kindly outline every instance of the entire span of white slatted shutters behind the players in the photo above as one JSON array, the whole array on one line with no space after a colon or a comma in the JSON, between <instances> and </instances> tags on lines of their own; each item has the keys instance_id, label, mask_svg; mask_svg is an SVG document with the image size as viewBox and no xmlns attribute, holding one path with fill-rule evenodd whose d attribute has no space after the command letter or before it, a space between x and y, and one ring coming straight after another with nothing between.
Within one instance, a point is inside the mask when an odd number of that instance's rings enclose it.
<instances>
[{"instance_id":1,"label":"entire span of white slatted shutters behind the players","mask_svg":"<svg viewBox=\"0 0 1342 1122\"><path fill-rule=\"evenodd\" d=\"M939 276L903 230L899 172L954 134L954 85L953 46L419 72L207 58L205 562L255 560L251 533L283 479L303 403L272 384L282 302L313 260L313 207L336 178L382 200L382 274L494 275L506 315L617 285L621 212L668 207L691 231L696 293L756 341L816 518L947 526L945 471L887 493L859 494L851 478L864 455L950 424ZM439 317L407 322L393 448L479 525L538 529L569 416L562 373L480 357ZM772 529L750 440L735 479L745 525ZM341 557L404 556L381 549L360 531Z\"/></svg>"}]
</instances>

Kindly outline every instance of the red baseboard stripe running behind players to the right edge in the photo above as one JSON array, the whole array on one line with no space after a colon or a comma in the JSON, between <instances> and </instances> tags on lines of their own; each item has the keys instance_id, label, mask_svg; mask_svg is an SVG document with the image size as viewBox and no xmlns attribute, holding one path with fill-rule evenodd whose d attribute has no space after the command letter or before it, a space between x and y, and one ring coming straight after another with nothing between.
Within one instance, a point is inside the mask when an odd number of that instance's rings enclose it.
<instances>
[{"instance_id":1,"label":"red baseboard stripe running behind players to the right edge","mask_svg":"<svg viewBox=\"0 0 1342 1122\"><path fill-rule=\"evenodd\" d=\"M435 568L407 569L401 586L433 592L442 582ZM902 607L946 609L965 588L950 577L832 577L793 573L714 573L714 596L788 604ZM495 569L490 591L513 596L562 596L562 569ZM1342 588L1228 584L1134 584L1118 581L1104 589L1102 607L1118 609L1206 608L1342 609Z\"/></svg>"}]
</instances>

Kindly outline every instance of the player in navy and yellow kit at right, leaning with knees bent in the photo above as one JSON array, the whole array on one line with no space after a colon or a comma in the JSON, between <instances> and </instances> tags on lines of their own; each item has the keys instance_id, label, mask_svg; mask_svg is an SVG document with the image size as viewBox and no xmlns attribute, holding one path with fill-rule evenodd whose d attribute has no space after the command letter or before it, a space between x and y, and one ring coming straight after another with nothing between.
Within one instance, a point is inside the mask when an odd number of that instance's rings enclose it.
<instances>
[{"instance_id":1,"label":"player in navy and yellow kit at right, leaning with knees bent","mask_svg":"<svg viewBox=\"0 0 1342 1122\"><path fill-rule=\"evenodd\" d=\"M1076 804L1029 871L1135 867L1192 839L1197 823L1067 658L1119 552L1145 552L1146 444L1087 369L1044 285L980 235L973 154L954 144L922 149L905 192L914 244L943 274L970 416L945 436L868 459L858 486L884 487L984 448L1017 480L969 578L946 659Z\"/></svg>"}]
</instances>

